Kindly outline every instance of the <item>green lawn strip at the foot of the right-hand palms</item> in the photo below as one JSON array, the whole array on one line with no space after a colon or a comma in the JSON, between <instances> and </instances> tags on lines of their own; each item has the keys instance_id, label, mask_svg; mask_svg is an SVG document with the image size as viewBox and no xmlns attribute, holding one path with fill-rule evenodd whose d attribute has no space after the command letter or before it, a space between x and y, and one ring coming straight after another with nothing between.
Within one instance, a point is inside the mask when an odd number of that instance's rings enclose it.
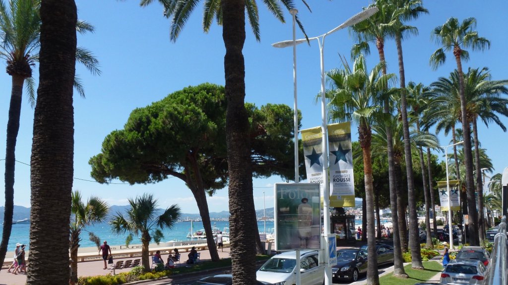
<instances>
[{"instance_id":1,"label":"green lawn strip at the foot of the right-hand palms","mask_svg":"<svg viewBox=\"0 0 508 285\"><path fill-rule=\"evenodd\" d=\"M381 285L414 285L415 283L425 282L432 278L437 273L441 272L443 267L436 261L426 261L423 263L425 270L411 269L411 265L404 266L406 274L409 278L397 278L393 276L393 273L385 275L379 278L379 284Z\"/></svg>"}]
</instances>

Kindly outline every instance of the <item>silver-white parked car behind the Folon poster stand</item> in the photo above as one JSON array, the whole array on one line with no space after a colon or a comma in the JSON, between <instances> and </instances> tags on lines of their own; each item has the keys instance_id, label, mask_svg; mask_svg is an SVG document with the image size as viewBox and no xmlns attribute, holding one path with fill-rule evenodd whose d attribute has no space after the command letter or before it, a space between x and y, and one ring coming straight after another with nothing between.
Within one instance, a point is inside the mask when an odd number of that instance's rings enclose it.
<instances>
[{"instance_id":1,"label":"silver-white parked car behind the Folon poster stand","mask_svg":"<svg viewBox=\"0 0 508 285\"><path fill-rule=\"evenodd\" d=\"M325 279L325 267L320 265L317 251L300 251L301 283L321 285ZM283 252L270 258L256 272L258 281L275 285L296 284L296 251Z\"/></svg>"}]
</instances>

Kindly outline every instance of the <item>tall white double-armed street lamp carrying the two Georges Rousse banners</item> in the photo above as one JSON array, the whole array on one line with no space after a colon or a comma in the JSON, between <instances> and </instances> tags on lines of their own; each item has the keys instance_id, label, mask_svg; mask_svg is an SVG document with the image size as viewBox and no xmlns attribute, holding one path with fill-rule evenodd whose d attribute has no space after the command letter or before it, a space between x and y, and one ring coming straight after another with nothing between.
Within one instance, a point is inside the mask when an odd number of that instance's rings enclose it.
<instances>
[{"instance_id":1,"label":"tall white double-armed street lamp carrying the two Georges Rousse banners","mask_svg":"<svg viewBox=\"0 0 508 285\"><path fill-rule=\"evenodd\" d=\"M324 223L324 232L326 234L324 245L322 245L321 250L323 253L328 253L328 234L330 233L330 184L328 182L328 145L327 145L327 116L326 116L326 98L325 98L325 56L324 56L324 47L325 47L325 38L327 35L334 33L340 29L346 28L348 26L352 26L356 23L359 23L370 16L374 15L379 9L377 7L371 7L363 10L360 13L355 14L353 17L347 19L342 24L338 25L334 29L326 32L317 37L308 38L308 41L317 40L319 49L320 49L320 63L321 63L321 120L322 120L322 132L323 132L323 223ZM282 41L272 44L275 48L286 48L293 46L293 51L296 50L296 45L307 42L307 39L299 39L293 41ZM297 254L298 255L298 254ZM297 260L298 263L298 260ZM298 269L298 268L297 268ZM297 274L298 275L298 274ZM330 267L330 263L325 263L325 285L332 284L332 270Z\"/></svg>"}]
</instances>

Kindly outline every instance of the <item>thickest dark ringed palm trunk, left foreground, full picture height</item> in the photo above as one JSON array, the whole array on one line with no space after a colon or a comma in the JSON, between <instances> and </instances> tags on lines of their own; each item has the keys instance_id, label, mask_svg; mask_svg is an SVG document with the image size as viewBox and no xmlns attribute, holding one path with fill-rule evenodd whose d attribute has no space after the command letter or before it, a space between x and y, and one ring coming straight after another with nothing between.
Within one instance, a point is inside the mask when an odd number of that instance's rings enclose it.
<instances>
[{"instance_id":1,"label":"thickest dark ringed palm trunk, left foreground, full picture height","mask_svg":"<svg viewBox=\"0 0 508 285\"><path fill-rule=\"evenodd\" d=\"M29 285L69 283L69 223L74 173L73 84L76 4L42 0L39 89L31 165ZM55 246L58 244L60 246Z\"/></svg>"}]
</instances>

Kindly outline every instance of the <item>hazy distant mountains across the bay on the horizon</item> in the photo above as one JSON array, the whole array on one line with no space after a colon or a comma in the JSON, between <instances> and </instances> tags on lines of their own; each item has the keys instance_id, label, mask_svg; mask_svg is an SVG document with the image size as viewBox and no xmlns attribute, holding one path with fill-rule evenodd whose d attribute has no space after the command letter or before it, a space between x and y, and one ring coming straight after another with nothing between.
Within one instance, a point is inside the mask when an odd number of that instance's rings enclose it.
<instances>
[{"instance_id":1,"label":"hazy distant mountains across the bay on the horizon","mask_svg":"<svg viewBox=\"0 0 508 285\"><path fill-rule=\"evenodd\" d=\"M110 209L110 216L115 215L117 212L123 213L129 207L130 206L128 206L128 205L124 205L124 206L113 205L113 206L111 206L111 209ZM4 212L5 212L5 207L4 206L0 207L0 224L4 222ZM229 218L229 216L230 216L229 211L210 212L210 219L227 219L227 218ZM256 217L258 217L258 218L263 217L263 209L256 210ZM266 209L266 217L273 218L273 207ZM14 205L13 220L18 221L18 220L23 220L23 219L27 219L27 218L30 218L30 208ZM186 220L187 218L195 220L195 219L201 219L201 216L199 215L199 213L182 213L181 214L180 219Z\"/></svg>"}]
</instances>

